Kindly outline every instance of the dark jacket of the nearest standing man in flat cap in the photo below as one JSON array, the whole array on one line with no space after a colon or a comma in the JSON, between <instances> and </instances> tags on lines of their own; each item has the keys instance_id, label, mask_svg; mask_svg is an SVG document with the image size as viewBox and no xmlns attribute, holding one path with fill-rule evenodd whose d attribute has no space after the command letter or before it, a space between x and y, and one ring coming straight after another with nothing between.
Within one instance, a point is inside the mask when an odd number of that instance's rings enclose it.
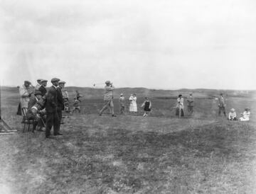
<instances>
[{"instance_id":1,"label":"dark jacket of the nearest standing man in flat cap","mask_svg":"<svg viewBox=\"0 0 256 194\"><path fill-rule=\"evenodd\" d=\"M46 96L46 113L57 112L58 107L58 91L54 86L51 86Z\"/></svg>"}]
</instances>

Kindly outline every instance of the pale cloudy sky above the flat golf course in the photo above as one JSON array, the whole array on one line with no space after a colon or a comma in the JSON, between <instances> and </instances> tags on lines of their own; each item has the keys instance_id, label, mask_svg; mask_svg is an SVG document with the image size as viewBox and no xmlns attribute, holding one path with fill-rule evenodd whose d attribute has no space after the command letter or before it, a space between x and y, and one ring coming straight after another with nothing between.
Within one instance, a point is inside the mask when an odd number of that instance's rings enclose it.
<instances>
[{"instance_id":1,"label":"pale cloudy sky above the flat golf course","mask_svg":"<svg viewBox=\"0 0 256 194\"><path fill-rule=\"evenodd\" d=\"M0 0L1 85L256 89L255 10L255 0Z\"/></svg>"}]
</instances>

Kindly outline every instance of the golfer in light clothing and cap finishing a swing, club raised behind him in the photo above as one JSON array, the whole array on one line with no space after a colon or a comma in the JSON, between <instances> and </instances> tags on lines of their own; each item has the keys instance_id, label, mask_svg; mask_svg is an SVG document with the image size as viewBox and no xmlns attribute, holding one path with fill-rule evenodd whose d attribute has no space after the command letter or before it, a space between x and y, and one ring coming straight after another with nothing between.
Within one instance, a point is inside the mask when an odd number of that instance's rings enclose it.
<instances>
[{"instance_id":1,"label":"golfer in light clothing and cap finishing a swing, club raised behind him","mask_svg":"<svg viewBox=\"0 0 256 194\"><path fill-rule=\"evenodd\" d=\"M117 115L114 115L114 104L113 104L113 92L114 92L114 86L110 81L105 82L105 91L104 91L104 101L105 105L103 106L102 110L100 110L100 116L102 115L103 111L107 108L110 108L112 117L116 117Z\"/></svg>"}]
</instances>

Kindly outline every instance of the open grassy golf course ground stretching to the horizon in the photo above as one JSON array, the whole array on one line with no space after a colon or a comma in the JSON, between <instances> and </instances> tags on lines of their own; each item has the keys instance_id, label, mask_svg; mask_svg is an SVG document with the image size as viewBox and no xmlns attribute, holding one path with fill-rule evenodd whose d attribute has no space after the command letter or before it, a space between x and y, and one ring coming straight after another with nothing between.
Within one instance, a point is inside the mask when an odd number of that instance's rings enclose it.
<instances>
[{"instance_id":1,"label":"open grassy golf course ground stretching to the horizon","mask_svg":"<svg viewBox=\"0 0 256 194\"><path fill-rule=\"evenodd\" d=\"M217 116L219 91L193 91L195 114L178 119L171 108L189 91L119 89L117 113L121 92L149 96L153 111L111 118L97 115L102 90L79 90L82 114L55 139L22 133L17 89L2 90L2 117L18 132L0 136L0 193L256 193L255 93L225 91L228 110L252 109L250 122L229 122Z\"/></svg>"}]
</instances>

